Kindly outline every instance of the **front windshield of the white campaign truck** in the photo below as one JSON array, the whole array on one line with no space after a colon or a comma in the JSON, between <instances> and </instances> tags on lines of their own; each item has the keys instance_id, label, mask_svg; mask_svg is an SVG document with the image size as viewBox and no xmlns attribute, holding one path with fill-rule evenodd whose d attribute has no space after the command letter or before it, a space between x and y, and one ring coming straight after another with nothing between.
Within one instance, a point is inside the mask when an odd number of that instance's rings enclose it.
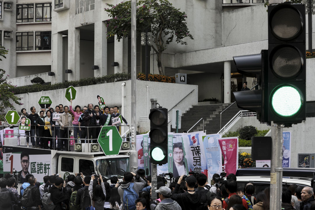
<instances>
[{"instance_id":1,"label":"front windshield of the white campaign truck","mask_svg":"<svg viewBox=\"0 0 315 210\"><path fill-rule=\"evenodd\" d=\"M96 170L97 174L102 174L107 178L123 176L125 172L129 172L129 157L98 159Z\"/></svg>"}]
</instances>

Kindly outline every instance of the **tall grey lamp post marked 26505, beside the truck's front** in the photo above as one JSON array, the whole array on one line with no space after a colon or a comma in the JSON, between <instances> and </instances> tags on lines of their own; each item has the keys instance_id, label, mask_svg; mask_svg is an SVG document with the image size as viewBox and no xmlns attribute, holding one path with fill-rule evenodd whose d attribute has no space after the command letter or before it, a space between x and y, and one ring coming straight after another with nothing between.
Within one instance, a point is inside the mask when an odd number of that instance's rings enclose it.
<instances>
[{"instance_id":1,"label":"tall grey lamp post marked 26505, beside the truck's front","mask_svg":"<svg viewBox=\"0 0 315 210\"><path fill-rule=\"evenodd\" d=\"M136 150L137 127L137 86L136 86L136 0L131 0L131 150L130 171L136 173L138 169L138 152Z\"/></svg>"}]
</instances>

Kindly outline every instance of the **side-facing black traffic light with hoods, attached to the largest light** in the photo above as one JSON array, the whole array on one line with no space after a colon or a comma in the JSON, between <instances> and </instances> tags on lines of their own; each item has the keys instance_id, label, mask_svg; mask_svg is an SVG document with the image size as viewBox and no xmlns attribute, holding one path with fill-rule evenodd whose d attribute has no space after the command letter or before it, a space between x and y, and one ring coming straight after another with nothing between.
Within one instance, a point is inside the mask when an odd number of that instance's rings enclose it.
<instances>
[{"instance_id":1,"label":"side-facing black traffic light with hoods, attached to the largest light","mask_svg":"<svg viewBox=\"0 0 315 210\"><path fill-rule=\"evenodd\" d=\"M234 56L233 60L238 73L257 77L257 82L261 89L233 92L236 104L239 108L254 111L260 122L267 121L267 65L268 52L261 50L260 54Z\"/></svg>"}]
</instances>

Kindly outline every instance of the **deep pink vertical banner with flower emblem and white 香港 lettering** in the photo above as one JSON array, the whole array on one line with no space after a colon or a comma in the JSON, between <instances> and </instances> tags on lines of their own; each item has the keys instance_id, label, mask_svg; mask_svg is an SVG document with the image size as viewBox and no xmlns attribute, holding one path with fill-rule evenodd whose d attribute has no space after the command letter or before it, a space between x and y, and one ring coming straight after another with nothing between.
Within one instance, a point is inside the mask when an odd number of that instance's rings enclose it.
<instances>
[{"instance_id":1,"label":"deep pink vertical banner with flower emblem and white \u9999\u6e2f lettering","mask_svg":"<svg viewBox=\"0 0 315 210\"><path fill-rule=\"evenodd\" d=\"M219 139L220 148L224 158L224 171L226 175L236 173L238 168L238 138L228 137Z\"/></svg>"}]
</instances>

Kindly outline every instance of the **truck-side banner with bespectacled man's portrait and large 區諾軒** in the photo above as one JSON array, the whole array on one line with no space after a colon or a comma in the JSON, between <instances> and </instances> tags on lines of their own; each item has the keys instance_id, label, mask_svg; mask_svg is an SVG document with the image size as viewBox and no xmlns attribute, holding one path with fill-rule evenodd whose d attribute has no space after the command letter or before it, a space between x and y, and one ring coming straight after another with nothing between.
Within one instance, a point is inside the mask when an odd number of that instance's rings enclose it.
<instances>
[{"instance_id":1,"label":"truck-side banner with bespectacled man's portrait and large \u5340\u8afe\u8ed2","mask_svg":"<svg viewBox=\"0 0 315 210\"><path fill-rule=\"evenodd\" d=\"M51 151L3 145L3 174L17 171L19 183L26 182L25 176L33 174L39 182L52 174Z\"/></svg>"}]
</instances>

